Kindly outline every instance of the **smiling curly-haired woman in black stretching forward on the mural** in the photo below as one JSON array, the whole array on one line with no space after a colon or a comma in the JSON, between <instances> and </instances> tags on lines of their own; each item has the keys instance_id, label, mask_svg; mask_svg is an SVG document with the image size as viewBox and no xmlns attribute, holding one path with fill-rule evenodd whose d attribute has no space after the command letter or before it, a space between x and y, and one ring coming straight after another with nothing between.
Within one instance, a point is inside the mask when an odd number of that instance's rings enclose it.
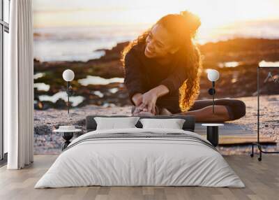
<instances>
[{"instance_id":1,"label":"smiling curly-haired woman in black stretching forward on the mural","mask_svg":"<svg viewBox=\"0 0 279 200\"><path fill-rule=\"evenodd\" d=\"M225 122L245 115L243 101L197 100L202 64L193 38L200 26L188 11L165 15L122 53L124 83L133 115L194 115L197 122ZM182 113L181 113L182 111Z\"/></svg>"}]
</instances>

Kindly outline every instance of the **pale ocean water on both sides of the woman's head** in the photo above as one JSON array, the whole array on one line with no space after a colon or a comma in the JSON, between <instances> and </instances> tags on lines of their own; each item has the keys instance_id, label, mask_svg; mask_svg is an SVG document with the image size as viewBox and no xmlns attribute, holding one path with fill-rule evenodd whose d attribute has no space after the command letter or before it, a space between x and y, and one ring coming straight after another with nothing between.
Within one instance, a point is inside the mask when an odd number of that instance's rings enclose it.
<instances>
[{"instance_id":1,"label":"pale ocean water on both sides of the woman's head","mask_svg":"<svg viewBox=\"0 0 279 200\"><path fill-rule=\"evenodd\" d=\"M63 27L34 29L34 57L41 62L83 61L104 55L116 43L131 41L145 25ZM223 27L199 29L198 43L224 41L229 38L279 38L279 20L240 22Z\"/></svg>"}]
</instances>

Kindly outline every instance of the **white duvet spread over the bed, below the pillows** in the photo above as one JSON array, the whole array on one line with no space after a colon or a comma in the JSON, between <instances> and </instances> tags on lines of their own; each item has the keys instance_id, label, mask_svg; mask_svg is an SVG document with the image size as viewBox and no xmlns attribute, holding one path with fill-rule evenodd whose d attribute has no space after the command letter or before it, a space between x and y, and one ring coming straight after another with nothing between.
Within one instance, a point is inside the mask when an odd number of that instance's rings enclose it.
<instances>
[{"instance_id":1,"label":"white duvet spread over the bed, below the pillows","mask_svg":"<svg viewBox=\"0 0 279 200\"><path fill-rule=\"evenodd\" d=\"M183 133L202 138L178 129L91 131L70 143L72 147L59 155L35 188L89 185L245 187L222 155L204 143L183 138L84 140L95 134L143 132Z\"/></svg>"}]
</instances>

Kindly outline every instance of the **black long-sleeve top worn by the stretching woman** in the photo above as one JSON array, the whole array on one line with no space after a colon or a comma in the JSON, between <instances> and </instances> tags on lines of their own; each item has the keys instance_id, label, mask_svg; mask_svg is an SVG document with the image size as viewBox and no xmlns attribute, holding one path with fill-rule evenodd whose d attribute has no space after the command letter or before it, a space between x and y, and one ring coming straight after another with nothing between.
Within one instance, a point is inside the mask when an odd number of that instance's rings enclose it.
<instances>
[{"instance_id":1,"label":"black long-sleeve top worn by the stretching woman","mask_svg":"<svg viewBox=\"0 0 279 200\"><path fill-rule=\"evenodd\" d=\"M158 98L157 106L179 113L179 87L187 79L185 66L179 62L163 65L144 55L145 45L135 45L125 57L124 83L130 99L136 93L148 92L158 85L165 85L169 93ZM133 101L132 101L133 102Z\"/></svg>"}]
</instances>

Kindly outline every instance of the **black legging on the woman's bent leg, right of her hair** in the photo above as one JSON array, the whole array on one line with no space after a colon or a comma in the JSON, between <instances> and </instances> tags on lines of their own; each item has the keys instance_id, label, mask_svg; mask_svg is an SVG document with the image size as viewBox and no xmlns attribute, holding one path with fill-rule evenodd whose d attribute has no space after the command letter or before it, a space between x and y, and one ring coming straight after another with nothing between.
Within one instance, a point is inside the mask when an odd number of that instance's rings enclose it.
<instances>
[{"instance_id":1,"label":"black legging on the woman's bent leg, right of her hair","mask_svg":"<svg viewBox=\"0 0 279 200\"><path fill-rule=\"evenodd\" d=\"M237 99L214 99L214 105L225 106L229 113L230 120L238 120L246 114L246 105L243 101ZM211 99L197 100L193 104L191 110L199 110L206 106L212 106Z\"/></svg>"}]
</instances>

